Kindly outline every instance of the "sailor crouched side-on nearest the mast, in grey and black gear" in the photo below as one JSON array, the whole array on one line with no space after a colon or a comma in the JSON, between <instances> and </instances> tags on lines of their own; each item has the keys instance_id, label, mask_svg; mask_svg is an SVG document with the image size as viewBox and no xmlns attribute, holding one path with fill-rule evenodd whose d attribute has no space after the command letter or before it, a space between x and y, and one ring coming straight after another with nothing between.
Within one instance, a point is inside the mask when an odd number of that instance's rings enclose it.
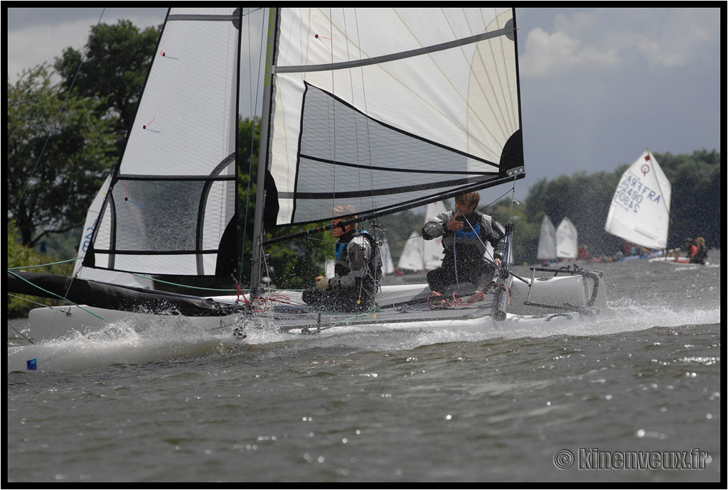
<instances>
[{"instance_id":1,"label":"sailor crouched side-on nearest the mast, in grey and black gear","mask_svg":"<svg viewBox=\"0 0 728 490\"><path fill-rule=\"evenodd\" d=\"M337 225L341 220L354 216L339 217L332 220ZM325 276L316 278L316 287L306 289L302 299L306 305L330 311L365 311L374 305L374 296L381 278L381 257L374 238L365 231L357 230L357 224L336 226L333 236L336 242L336 265L331 279Z\"/></svg>"}]
</instances>

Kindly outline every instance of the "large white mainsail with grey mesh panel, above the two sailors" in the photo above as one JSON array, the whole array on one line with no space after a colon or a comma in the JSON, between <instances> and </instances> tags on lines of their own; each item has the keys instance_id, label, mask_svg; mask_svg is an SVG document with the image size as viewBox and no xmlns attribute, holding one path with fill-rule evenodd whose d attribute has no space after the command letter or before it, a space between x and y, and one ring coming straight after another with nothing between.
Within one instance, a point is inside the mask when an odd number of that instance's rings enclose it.
<instances>
[{"instance_id":1,"label":"large white mainsail with grey mesh panel, above the two sailors","mask_svg":"<svg viewBox=\"0 0 728 490\"><path fill-rule=\"evenodd\" d=\"M523 176L513 9L279 9L278 225ZM432 199L434 200L434 199Z\"/></svg>"}]
</instances>

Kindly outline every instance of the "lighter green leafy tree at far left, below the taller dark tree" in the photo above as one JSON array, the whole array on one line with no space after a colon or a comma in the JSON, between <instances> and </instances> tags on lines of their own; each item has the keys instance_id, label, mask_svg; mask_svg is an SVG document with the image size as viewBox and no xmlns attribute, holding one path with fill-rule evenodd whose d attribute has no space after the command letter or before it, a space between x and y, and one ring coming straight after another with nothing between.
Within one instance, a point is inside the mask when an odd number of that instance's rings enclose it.
<instances>
[{"instance_id":1,"label":"lighter green leafy tree at far left, below the taller dark tree","mask_svg":"<svg viewBox=\"0 0 728 490\"><path fill-rule=\"evenodd\" d=\"M82 225L114 161L98 101L65 97L45 65L7 87L7 203L26 246Z\"/></svg>"}]
</instances>

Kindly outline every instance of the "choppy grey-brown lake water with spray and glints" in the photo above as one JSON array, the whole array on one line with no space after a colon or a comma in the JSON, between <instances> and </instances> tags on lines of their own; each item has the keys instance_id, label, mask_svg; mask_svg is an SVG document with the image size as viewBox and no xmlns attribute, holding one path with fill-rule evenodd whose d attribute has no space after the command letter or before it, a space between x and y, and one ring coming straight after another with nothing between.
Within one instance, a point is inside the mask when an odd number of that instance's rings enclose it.
<instances>
[{"instance_id":1,"label":"choppy grey-brown lake water with spray and glints","mask_svg":"<svg viewBox=\"0 0 728 490\"><path fill-rule=\"evenodd\" d=\"M560 330L71 339L94 365L7 375L7 481L720 481L710 260L593 265L608 314Z\"/></svg>"}]
</instances>

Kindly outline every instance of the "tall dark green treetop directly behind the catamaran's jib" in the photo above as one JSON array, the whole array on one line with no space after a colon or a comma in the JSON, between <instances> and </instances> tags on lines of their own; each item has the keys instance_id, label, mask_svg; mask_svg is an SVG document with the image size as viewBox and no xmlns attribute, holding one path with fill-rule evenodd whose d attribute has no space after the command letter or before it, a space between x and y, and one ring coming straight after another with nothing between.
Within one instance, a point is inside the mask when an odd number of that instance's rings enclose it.
<instances>
[{"instance_id":1,"label":"tall dark green treetop directly behind the catamaran's jib","mask_svg":"<svg viewBox=\"0 0 728 490\"><path fill-rule=\"evenodd\" d=\"M89 34L84 60L72 47L55 60L63 87L74 87L79 96L94 98L98 116L114 121L119 150L134 122L160 31L154 27L140 31L130 20L99 24Z\"/></svg>"}]
</instances>

